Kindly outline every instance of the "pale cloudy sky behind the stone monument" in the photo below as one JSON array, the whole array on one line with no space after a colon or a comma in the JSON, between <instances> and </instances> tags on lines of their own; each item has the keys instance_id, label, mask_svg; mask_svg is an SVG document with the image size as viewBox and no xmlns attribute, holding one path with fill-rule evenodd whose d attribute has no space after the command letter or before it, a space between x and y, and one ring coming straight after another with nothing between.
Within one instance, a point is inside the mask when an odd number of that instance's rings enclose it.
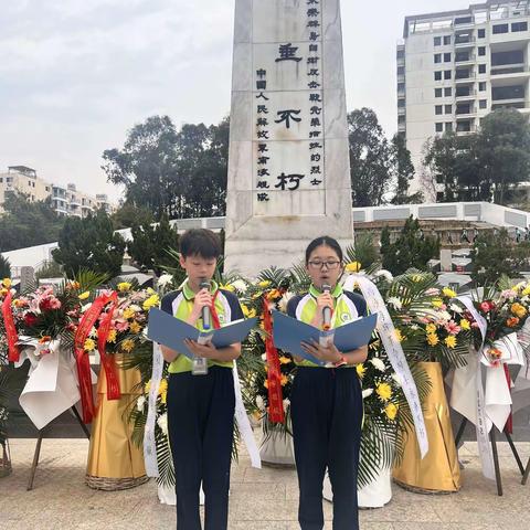
<instances>
[{"instance_id":1,"label":"pale cloudy sky behind the stone monument","mask_svg":"<svg viewBox=\"0 0 530 530\"><path fill-rule=\"evenodd\" d=\"M342 0L348 109L396 130L395 45L405 15L464 0ZM29 166L88 193L148 116L216 124L230 113L234 0L0 0L0 172Z\"/></svg>"}]
</instances>

